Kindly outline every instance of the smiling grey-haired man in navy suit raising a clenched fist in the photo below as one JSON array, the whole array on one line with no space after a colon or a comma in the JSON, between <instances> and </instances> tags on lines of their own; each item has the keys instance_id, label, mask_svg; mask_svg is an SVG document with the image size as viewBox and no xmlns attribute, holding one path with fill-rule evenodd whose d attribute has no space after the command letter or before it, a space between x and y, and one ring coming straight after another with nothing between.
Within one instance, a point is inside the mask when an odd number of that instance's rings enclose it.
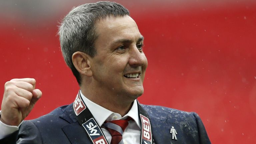
<instances>
[{"instance_id":1,"label":"smiling grey-haired man in navy suit raising a clenched fist","mask_svg":"<svg viewBox=\"0 0 256 144\"><path fill-rule=\"evenodd\" d=\"M210 143L196 113L138 103L147 68L144 38L122 5L78 6L63 19L59 35L64 59L80 86L75 101L23 121L42 92L31 78L7 82L0 143Z\"/></svg>"}]
</instances>

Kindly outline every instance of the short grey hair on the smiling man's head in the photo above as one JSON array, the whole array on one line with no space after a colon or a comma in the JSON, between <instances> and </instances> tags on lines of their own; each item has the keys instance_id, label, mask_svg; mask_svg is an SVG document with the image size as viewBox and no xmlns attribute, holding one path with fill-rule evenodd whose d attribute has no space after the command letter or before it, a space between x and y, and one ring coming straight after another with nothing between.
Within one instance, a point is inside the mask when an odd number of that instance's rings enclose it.
<instances>
[{"instance_id":1,"label":"short grey hair on the smiling man's head","mask_svg":"<svg viewBox=\"0 0 256 144\"><path fill-rule=\"evenodd\" d=\"M97 53L94 41L95 22L107 16L130 15L129 11L116 2L102 1L97 3L83 4L74 7L62 20L59 26L61 51L66 64L72 70L78 84L81 84L81 76L72 62L72 55L77 51L84 52L91 57Z\"/></svg>"}]
</instances>

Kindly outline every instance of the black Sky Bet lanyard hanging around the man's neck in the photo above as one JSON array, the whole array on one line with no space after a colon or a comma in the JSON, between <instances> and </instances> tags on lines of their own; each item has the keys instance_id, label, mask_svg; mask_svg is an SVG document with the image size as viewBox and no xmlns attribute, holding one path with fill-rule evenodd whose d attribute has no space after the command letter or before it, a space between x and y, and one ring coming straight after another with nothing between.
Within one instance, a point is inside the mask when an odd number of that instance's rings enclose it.
<instances>
[{"instance_id":1,"label":"black Sky Bet lanyard hanging around the man's neck","mask_svg":"<svg viewBox=\"0 0 256 144\"><path fill-rule=\"evenodd\" d=\"M141 120L141 144L152 144L152 126L148 113L142 108L138 102L139 118ZM86 107L81 98L80 91L73 103L73 110L76 114L76 119L81 126L83 126L87 136L90 138L92 144L108 144L107 139L99 124L96 122L90 110Z\"/></svg>"}]
</instances>

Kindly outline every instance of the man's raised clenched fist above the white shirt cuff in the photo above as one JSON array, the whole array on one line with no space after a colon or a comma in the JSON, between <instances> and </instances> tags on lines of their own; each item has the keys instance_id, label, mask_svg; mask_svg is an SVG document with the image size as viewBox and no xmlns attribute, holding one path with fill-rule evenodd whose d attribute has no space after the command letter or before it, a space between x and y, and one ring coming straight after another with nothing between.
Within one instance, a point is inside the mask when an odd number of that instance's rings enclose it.
<instances>
[{"instance_id":1,"label":"man's raised clenched fist above the white shirt cuff","mask_svg":"<svg viewBox=\"0 0 256 144\"><path fill-rule=\"evenodd\" d=\"M42 96L35 85L33 78L12 79L5 83L0 118L3 123L18 126L28 116Z\"/></svg>"}]
</instances>

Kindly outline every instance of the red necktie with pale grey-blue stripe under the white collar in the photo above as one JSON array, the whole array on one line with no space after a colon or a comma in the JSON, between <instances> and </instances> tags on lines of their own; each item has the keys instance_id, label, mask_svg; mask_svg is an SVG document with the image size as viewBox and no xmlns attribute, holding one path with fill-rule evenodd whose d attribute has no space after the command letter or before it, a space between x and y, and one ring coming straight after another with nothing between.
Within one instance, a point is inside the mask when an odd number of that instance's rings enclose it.
<instances>
[{"instance_id":1,"label":"red necktie with pale grey-blue stripe under the white collar","mask_svg":"<svg viewBox=\"0 0 256 144\"><path fill-rule=\"evenodd\" d=\"M112 136L110 144L124 144L123 132L128 126L129 120L131 120L131 117L128 117L126 120L113 120L104 124L105 128L110 132Z\"/></svg>"}]
</instances>

